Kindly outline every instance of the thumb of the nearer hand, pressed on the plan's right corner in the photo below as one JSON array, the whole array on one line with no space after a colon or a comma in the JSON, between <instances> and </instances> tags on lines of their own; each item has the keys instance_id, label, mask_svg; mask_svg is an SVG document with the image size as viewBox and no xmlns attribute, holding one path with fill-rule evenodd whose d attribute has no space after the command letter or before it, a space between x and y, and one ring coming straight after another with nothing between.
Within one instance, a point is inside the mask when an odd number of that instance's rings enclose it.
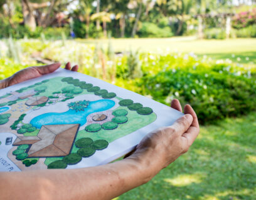
<instances>
[{"instance_id":1,"label":"thumb of the nearer hand, pressed on the plan's right corner","mask_svg":"<svg viewBox=\"0 0 256 200\"><path fill-rule=\"evenodd\" d=\"M171 126L176 133L182 135L185 133L193 121L193 117L190 114L185 114Z\"/></svg>"}]
</instances>

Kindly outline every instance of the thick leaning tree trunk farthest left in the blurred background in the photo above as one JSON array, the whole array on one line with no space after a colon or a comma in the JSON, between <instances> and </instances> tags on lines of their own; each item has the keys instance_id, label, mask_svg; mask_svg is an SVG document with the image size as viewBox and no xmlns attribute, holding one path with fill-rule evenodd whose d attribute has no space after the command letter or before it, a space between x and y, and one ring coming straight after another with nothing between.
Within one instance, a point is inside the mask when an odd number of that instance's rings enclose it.
<instances>
[{"instance_id":1,"label":"thick leaning tree trunk farthest left in the blurred background","mask_svg":"<svg viewBox=\"0 0 256 200\"><path fill-rule=\"evenodd\" d=\"M25 26L28 26L31 31L35 31L36 19L33 14L33 8L29 6L29 2L26 0L22 1L22 12Z\"/></svg>"}]
</instances>

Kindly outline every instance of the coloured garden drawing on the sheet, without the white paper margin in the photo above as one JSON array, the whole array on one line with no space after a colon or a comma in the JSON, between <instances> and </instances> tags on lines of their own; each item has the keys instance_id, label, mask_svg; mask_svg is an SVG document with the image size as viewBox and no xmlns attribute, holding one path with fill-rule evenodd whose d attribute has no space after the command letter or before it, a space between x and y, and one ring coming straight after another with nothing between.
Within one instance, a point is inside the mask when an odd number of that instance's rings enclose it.
<instances>
[{"instance_id":1,"label":"coloured garden drawing on the sheet, without the white paper margin","mask_svg":"<svg viewBox=\"0 0 256 200\"><path fill-rule=\"evenodd\" d=\"M16 136L6 154L21 171L76 165L156 118L142 103L72 77L0 96L0 129Z\"/></svg>"}]
</instances>

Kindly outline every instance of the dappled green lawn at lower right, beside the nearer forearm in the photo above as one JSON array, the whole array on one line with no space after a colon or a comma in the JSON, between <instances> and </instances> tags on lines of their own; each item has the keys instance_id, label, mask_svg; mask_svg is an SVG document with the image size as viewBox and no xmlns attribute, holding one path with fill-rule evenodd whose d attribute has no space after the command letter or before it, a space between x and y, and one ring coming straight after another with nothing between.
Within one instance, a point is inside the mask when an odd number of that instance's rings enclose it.
<instances>
[{"instance_id":1,"label":"dappled green lawn at lower right, beside the nearer forearm","mask_svg":"<svg viewBox=\"0 0 256 200\"><path fill-rule=\"evenodd\" d=\"M255 199L256 113L201 127L187 154L117 199Z\"/></svg>"}]
</instances>

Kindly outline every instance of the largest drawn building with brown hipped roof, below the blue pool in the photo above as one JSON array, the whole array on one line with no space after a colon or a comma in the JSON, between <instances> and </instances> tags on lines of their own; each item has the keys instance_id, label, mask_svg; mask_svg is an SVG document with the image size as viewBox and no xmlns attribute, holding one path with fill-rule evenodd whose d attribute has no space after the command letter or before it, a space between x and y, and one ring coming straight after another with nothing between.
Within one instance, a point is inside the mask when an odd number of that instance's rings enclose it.
<instances>
[{"instance_id":1,"label":"largest drawn building with brown hipped roof, below the blue pool","mask_svg":"<svg viewBox=\"0 0 256 200\"><path fill-rule=\"evenodd\" d=\"M31 144L28 157L67 156L80 124L44 125L37 136L19 136L13 145Z\"/></svg>"}]
</instances>

